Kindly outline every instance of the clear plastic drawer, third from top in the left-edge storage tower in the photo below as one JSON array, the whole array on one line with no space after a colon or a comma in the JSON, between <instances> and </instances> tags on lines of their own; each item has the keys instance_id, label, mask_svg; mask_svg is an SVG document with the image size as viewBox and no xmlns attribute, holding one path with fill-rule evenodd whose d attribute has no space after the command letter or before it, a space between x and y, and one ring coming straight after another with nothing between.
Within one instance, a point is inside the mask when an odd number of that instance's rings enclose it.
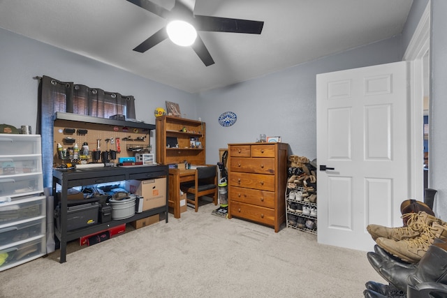
<instances>
[{"instance_id":1,"label":"clear plastic drawer, third from top in the left-edge storage tower","mask_svg":"<svg viewBox=\"0 0 447 298\"><path fill-rule=\"evenodd\" d=\"M0 175L0 197L36 192L43 193L42 174Z\"/></svg>"}]
</instances>

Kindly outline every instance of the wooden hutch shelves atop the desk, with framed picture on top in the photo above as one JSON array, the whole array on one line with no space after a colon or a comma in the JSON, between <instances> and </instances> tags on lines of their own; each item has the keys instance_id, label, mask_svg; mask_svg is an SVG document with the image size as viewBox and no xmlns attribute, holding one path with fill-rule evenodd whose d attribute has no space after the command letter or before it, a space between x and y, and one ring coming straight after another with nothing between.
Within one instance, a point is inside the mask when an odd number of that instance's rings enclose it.
<instances>
[{"instance_id":1,"label":"wooden hutch shelves atop the desk, with framed picture on top","mask_svg":"<svg viewBox=\"0 0 447 298\"><path fill-rule=\"evenodd\" d=\"M186 131L182 131L186 128ZM167 147L167 137L177 137L177 147ZM191 148L191 137L198 138L200 148ZM156 118L156 162L163 165L183 163L205 165L205 122L173 116Z\"/></svg>"}]
</instances>

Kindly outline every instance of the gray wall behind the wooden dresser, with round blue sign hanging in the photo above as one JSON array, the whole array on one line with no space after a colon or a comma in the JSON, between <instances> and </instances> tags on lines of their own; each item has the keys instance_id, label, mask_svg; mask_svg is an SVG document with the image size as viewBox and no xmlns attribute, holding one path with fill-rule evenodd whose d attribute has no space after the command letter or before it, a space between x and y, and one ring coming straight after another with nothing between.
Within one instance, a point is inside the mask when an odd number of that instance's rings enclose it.
<instances>
[{"instance_id":1,"label":"gray wall behind the wooden dresser, with round blue sign hanging","mask_svg":"<svg viewBox=\"0 0 447 298\"><path fill-rule=\"evenodd\" d=\"M316 74L401 60L401 36L334 54L230 87L199 94L198 117L207 124L207 163L227 143L256 142L260 133L280 135L289 153L316 158ZM237 114L220 126L223 112Z\"/></svg>"}]
</instances>

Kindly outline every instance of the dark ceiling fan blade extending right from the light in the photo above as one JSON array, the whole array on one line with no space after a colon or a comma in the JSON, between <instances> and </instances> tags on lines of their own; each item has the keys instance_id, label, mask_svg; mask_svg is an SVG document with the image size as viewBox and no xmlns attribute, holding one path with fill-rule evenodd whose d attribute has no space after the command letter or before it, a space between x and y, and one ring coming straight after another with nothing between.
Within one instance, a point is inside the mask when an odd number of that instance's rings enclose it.
<instances>
[{"instance_id":1,"label":"dark ceiling fan blade extending right from the light","mask_svg":"<svg viewBox=\"0 0 447 298\"><path fill-rule=\"evenodd\" d=\"M264 22L195 15L197 31L261 34Z\"/></svg>"}]
</instances>

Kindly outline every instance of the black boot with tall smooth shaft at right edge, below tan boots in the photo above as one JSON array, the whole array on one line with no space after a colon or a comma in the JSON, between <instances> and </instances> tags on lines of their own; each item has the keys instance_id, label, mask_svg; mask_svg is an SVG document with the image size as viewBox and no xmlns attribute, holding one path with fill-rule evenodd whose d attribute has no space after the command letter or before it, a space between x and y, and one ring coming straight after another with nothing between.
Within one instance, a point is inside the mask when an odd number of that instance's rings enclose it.
<instances>
[{"instance_id":1,"label":"black boot with tall smooth shaft at right edge, below tan boots","mask_svg":"<svg viewBox=\"0 0 447 298\"><path fill-rule=\"evenodd\" d=\"M447 244L436 244L428 248L418 264L418 269L410 274L406 281L409 285L418 285L434 281L447 285Z\"/></svg>"}]
</instances>

